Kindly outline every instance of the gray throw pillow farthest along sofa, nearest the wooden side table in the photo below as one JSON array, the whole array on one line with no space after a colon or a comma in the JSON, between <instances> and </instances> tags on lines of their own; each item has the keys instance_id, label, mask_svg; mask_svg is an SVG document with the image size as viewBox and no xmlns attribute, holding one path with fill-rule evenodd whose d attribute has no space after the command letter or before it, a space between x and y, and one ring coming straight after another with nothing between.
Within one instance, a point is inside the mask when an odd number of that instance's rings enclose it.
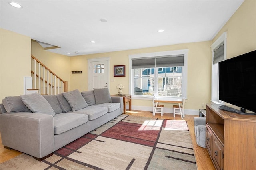
<instances>
[{"instance_id":1,"label":"gray throw pillow farthest along sofa, nearest the wooden side table","mask_svg":"<svg viewBox=\"0 0 256 170\"><path fill-rule=\"evenodd\" d=\"M111 103L110 93L108 88L93 89L96 104Z\"/></svg>"}]
</instances>

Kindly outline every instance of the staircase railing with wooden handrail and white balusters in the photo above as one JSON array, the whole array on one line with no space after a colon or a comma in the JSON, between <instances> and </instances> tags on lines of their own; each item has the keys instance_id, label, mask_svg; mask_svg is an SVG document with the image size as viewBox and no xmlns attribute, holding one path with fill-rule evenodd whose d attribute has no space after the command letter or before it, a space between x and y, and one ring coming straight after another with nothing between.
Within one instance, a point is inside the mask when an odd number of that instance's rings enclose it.
<instances>
[{"instance_id":1,"label":"staircase railing with wooden handrail and white balusters","mask_svg":"<svg viewBox=\"0 0 256 170\"><path fill-rule=\"evenodd\" d=\"M38 91L42 95L57 95L68 91L68 82L61 79L33 55L31 55L31 77L32 88L26 91Z\"/></svg>"}]
</instances>

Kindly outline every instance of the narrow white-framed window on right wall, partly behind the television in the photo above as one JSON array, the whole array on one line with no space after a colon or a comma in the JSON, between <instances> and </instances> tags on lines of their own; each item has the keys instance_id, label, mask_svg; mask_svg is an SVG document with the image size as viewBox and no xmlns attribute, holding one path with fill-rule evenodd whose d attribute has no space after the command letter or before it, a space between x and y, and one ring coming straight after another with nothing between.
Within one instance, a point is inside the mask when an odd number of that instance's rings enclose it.
<instances>
[{"instance_id":1,"label":"narrow white-framed window on right wall, partly behind the television","mask_svg":"<svg viewBox=\"0 0 256 170\"><path fill-rule=\"evenodd\" d=\"M224 32L212 45L212 97L214 103L223 103L219 100L219 72L218 63L226 59L227 32Z\"/></svg>"}]
</instances>

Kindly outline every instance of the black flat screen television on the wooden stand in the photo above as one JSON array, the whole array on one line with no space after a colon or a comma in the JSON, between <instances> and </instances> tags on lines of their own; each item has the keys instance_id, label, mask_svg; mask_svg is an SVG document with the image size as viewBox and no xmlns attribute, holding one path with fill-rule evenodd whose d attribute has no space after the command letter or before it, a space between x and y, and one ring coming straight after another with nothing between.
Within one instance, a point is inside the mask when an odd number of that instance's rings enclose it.
<instances>
[{"instance_id":1,"label":"black flat screen television on the wooden stand","mask_svg":"<svg viewBox=\"0 0 256 170\"><path fill-rule=\"evenodd\" d=\"M256 112L256 50L219 62L219 99L241 110L220 106L240 114Z\"/></svg>"}]
</instances>

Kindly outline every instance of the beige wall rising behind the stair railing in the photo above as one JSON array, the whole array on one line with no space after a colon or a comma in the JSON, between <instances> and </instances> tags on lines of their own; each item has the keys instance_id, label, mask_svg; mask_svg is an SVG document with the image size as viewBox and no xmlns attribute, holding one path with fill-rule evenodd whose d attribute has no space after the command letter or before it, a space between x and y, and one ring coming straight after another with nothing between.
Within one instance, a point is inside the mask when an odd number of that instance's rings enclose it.
<instances>
[{"instance_id":1,"label":"beige wall rising behind the stair railing","mask_svg":"<svg viewBox=\"0 0 256 170\"><path fill-rule=\"evenodd\" d=\"M68 81L68 91L70 91L70 57L44 51L43 47L36 41L31 41L31 54L61 79Z\"/></svg>"}]
</instances>

